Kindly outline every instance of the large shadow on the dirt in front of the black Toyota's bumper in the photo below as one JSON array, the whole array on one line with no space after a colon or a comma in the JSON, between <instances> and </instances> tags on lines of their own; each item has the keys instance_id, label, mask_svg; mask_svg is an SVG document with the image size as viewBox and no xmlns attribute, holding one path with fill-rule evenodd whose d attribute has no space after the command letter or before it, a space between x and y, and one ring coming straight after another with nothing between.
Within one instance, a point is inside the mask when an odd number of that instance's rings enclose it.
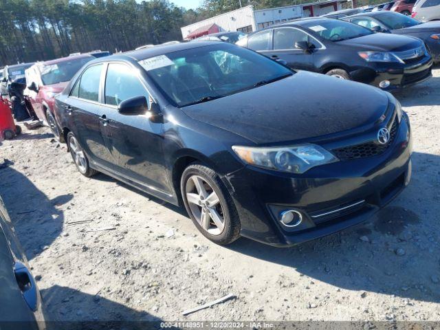
<instances>
[{"instance_id":1,"label":"large shadow on the dirt in front of the black Toyota's bumper","mask_svg":"<svg viewBox=\"0 0 440 330\"><path fill-rule=\"evenodd\" d=\"M361 225L292 248L226 248L343 289L440 303L440 157L414 153L412 164L409 186Z\"/></svg>"}]
</instances>

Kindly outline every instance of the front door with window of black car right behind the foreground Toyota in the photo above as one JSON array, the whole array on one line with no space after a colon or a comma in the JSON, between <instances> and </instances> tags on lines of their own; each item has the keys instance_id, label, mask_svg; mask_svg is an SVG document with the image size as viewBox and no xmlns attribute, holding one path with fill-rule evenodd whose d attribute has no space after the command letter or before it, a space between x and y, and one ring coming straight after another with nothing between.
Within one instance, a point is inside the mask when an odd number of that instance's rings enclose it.
<instances>
[{"instance_id":1,"label":"front door with window of black car right behind the foreground Toyota","mask_svg":"<svg viewBox=\"0 0 440 330\"><path fill-rule=\"evenodd\" d=\"M322 45L312 38L306 32L297 28L276 28L274 29L274 47L271 52L267 52L271 58L287 62L292 69L315 71L314 52L319 50ZM295 43L305 41L310 45L315 45L315 49L311 52L295 47Z\"/></svg>"}]
</instances>

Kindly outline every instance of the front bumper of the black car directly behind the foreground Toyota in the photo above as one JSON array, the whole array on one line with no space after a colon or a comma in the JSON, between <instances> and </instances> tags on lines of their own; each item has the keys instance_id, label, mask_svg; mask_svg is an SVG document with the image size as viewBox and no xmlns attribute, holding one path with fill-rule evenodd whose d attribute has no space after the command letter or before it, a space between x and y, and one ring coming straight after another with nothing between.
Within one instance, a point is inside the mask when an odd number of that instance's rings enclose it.
<instances>
[{"instance_id":1,"label":"front bumper of the black car directly behind the foreground Toyota","mask_svg":"<svg viewBox=\"0 0 440 330\"><path fill-rule=\"evenodd\" d=\"M428 80L432 76L432 58L424 56L415 63L369 63L369 67L350 72L353 80L380 87L380 83L388 80L390 85L385 91L402 89Z\"/></svg>"}]
</instances>

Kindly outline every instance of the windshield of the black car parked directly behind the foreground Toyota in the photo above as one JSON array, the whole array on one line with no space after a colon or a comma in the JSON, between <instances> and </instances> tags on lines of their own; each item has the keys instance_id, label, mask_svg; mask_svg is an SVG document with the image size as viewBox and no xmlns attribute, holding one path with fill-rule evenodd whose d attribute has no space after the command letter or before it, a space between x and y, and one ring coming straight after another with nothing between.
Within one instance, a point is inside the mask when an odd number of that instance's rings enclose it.
<instances>
[{"instance_id":1,"label":"windshield of the black car parked directly behind the foreground Toyota","mask_svg":"<svg viewBox=\"0 0 440 330\"><path fill-rule=\"evenodd\" d=\"M362 26L348 23L346 21L338 21L336 19L326 19L318 22L310 21L303 24L303 26L315 32L321 38L329 41L354 39L374 33Z\"/></svg>"}]
</instances>

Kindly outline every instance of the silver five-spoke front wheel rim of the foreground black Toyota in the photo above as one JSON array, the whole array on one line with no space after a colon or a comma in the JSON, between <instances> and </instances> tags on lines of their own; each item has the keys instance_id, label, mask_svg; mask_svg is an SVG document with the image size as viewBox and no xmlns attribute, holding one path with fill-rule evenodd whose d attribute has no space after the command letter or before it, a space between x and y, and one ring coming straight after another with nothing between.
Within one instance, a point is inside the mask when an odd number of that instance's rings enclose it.
<instances>
[{"instance_id":1,"label":"silver five-spoke front wheel rim of the foreground black Toyota","mask_svg":"<svg viewBox=\"0 0 440 330\"><path fill-rule=\"evenodd\" d=\"M185 189L192 216L201 228L212 235L221 234L225 228L225 216L219 196L214 189L198 175L192 175L186 181Z\"/></svg>"}]
</instances>

